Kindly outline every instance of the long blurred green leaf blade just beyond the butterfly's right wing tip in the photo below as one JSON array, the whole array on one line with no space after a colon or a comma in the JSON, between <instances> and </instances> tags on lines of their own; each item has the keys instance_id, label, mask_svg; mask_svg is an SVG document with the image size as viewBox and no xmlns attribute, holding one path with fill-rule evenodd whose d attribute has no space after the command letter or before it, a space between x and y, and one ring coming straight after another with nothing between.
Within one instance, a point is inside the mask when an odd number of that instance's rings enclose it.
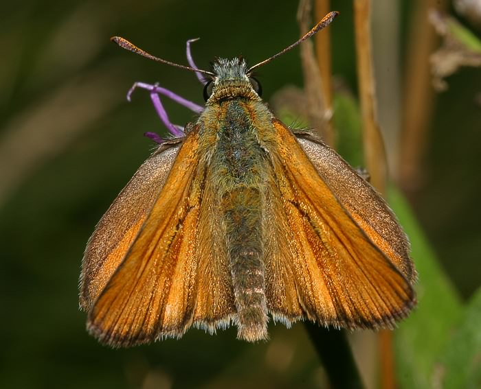
<instances>
[{"instance_id":1,"label":"long blurred green leaf blade just beyond the butterfly's right wing tip","mask_svg":"<svg viewBox=\"0 0 481 389\"><path fill-rule=\"evenodd\" d=\"M433 388L436 366L462 317L462 305L407 201L394 188L390 188L388 198L410 237L419 276L418 306L395 332L397 378L401 388Z\"/></svg>"}]
</instances>

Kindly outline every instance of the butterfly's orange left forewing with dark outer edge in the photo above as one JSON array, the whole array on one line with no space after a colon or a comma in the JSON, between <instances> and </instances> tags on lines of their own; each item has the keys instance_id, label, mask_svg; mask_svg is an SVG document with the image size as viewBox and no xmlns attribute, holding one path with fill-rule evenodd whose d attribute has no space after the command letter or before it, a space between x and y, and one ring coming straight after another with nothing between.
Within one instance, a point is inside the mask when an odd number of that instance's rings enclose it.
<instances>
[{"instance_id":1,"label":"butterfly's orange left forewing with dark outer edge","mask_svg":"<svg viewBox=\"0 0 481 389\"><path fill-rule=\"evenodd\" d=\"M182 333L194 309L199 192L197 132L186 137L133 244L89 313L89 329L114 346ZM195 196L197 195L197 196ZM187 255L189 254L189 255Z\"/></svg>"}]
</instances>

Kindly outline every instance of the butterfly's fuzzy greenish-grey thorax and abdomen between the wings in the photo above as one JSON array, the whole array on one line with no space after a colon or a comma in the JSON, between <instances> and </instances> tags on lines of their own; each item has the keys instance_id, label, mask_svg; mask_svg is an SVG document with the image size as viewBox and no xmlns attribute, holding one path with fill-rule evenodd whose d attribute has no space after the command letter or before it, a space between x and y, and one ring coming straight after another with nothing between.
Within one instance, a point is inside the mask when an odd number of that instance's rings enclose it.
<instances>
[{"instance_id":1,"label":"butterfly's fuzzy greenish-grey thorax and abdomen between the wings","mask_svg":"<svg viewBox=\"0 0 481 389\"><path fill-rule=\"evenodd\" d=\"M223 124L219 126L212 163L219 172L215 181L232 275L238 338L253 342L267 339L262 262L265 154L245 107L235 101L223 104L221 115L225 116L220 121Z\"/></svg>"}]
</instances>

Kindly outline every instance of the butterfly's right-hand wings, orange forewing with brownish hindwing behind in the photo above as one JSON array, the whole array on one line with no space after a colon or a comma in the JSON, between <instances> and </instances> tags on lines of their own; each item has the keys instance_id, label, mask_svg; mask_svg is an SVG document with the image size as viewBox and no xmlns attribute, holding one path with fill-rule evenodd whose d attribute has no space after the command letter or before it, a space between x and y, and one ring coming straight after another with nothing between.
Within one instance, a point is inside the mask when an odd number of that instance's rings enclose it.
<instances>
[{"instance_id":1,"label":"butterfly's right-hand wings, orange forewing with brownish hindwing behind","mask_svg":"<svg viewBox=\"0 0 481 389\"><path fill-rule=\"evenodd\" d=\"M349 167L344 166L346 176L337 173L341 182L335 189L350 181L354 189L344 197L333 191L323 174L341 163L337 154L325 152L331 159L318 158L321 168L316 169L289 129L278 121L273 124L279 141L271 143L277 150L269 150L275 178L269 182L272 190L266 202L273 221L266 221L265 253L273 318L287 325L308 318L350 329L392 327L415 303L407 279L412 276L404 270L412 264L407 252L398 250L408 247L401 228L382 200L374 206L363 202L366 197L377 199L377 194ZM361 208L356 217L350 214ZM380 215L371 212L379 208L389 222L377 224ZM396 235L385 231L388 236L379 240L385 223L396 225ZM393 252L401 259L390 257ZM398 268L396 261L409 264Z\"/></svg>"}]
</instances>

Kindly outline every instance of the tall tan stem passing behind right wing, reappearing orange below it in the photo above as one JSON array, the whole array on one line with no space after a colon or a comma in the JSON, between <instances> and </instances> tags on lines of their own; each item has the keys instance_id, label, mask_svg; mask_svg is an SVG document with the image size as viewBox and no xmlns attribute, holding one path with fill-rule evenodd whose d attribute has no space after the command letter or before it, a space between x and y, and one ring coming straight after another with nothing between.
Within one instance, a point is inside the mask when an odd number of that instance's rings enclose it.
<instances>
[{"instance_id":1,"label":"tall tan stem passing behind right wing, reappearing orange below it","mask_svg":"<svg viewBox=\"0 0 481 389\"><path fill-rule=\"evenodd\" d=\"M376 95L374 89L374 71L370 36L370 0L354 1L355 41L357 51L357 78L359 99L363 122L363 146L366 168L371 182L381 193L385 192L387 176L386 156L381 131L377 121ZM394 363L392 360L392 337L390 333L381 332L379 337L381 352L382 388L394 388Z\"/></svg>"}]
</instances>

